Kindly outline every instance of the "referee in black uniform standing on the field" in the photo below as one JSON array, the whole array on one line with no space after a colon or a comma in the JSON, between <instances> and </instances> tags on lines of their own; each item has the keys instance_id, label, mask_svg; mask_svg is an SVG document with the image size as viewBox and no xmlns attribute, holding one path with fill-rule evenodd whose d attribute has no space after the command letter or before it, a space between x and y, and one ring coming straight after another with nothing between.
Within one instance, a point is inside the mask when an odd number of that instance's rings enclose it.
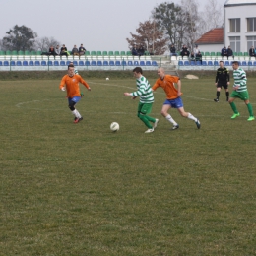
<instances>
[{"instance_id":1,"label":"referee in black uniform standing on the field","mask_svg":"<svg viewBox=\"0 0 256 256\"><path fill-rule=\"evenodd\" d=\"M224 62L220 61L220 68L217 70L215 85L217 87L216 98L214 99L216 102L219 102L220 91L222 87L225 90L226 101L229 99L228 85L229 85L229 71L224 67Z\"/></svg>"}]
</instances>

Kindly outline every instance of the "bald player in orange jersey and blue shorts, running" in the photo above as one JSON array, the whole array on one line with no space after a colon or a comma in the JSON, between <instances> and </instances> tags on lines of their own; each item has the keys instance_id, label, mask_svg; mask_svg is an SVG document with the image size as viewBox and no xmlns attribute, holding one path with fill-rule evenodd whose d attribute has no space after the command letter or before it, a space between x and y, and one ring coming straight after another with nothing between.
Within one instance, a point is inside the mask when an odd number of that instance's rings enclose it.
<instances>
[{"instance_id":1,"label":"bald player in orange jersey and blue shorts, running","mask_svg":"<svg viewBox=\"0 0 256 256\"><path fill-rule=\"evenodd\" d=\"M198 129L200 129L200 122L199 120L193 116L191 113L185 112L183 107L183 102L180 96L181 93L181 81L179 77L174 77L170 75L165 75L164 69L158 69L158 76L159 79L156 81L155 85L152 87L152 90L155 91L159 87L161 87L165 94L166 100L163 103L161 108L161 115L165 117L170 123L173 124L172 130L178 129L179 125L174 121L174 119L168 114L168 110L172 108L177 108L178 112L181 116L187 117L193 120L196 123ZM177 84L177 89L174 87L174 83Z\"/></svg>"}]
</instances>

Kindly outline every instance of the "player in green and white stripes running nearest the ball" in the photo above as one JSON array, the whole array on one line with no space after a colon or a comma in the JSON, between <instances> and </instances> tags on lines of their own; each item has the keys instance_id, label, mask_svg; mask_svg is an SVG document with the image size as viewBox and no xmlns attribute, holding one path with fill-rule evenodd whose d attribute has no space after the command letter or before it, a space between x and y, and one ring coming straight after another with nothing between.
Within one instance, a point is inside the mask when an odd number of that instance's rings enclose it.
<instances>
[{"instance_id":1,"label":"player in green and white stripes running nearest the ball","mask_svg":"<svg viewBox=\"0 0 256 256\"><path fill-rule=\"evenodd\" d=\"M152 110L154 96L149 81L142 75L142 73L143 71L140 67L136 67L133 70L133 74L136 77L137 91L133 93L124 93L124 96L132 96L133 99L135 99L137 96L140 96L140 102L138 105L138 117L148 127L148 130L145 133L152 133L154 132L154 128L157 127L159 119L147 115Z\"/></svg>"}]
</instances>

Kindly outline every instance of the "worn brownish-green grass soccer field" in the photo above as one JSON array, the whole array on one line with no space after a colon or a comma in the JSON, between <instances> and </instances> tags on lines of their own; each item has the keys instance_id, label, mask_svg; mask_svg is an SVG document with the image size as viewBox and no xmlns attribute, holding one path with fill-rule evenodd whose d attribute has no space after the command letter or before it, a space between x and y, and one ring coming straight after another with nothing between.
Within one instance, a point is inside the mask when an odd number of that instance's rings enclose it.
<instances>
[{"instance_id":1,"label":"worn brownish-green grass soccer field","mask_svg":"<svg viewBox=\"0 0 256 256\"><path fill-rule=\"evenodd\" d=\"M201 129L171 109L171 131L158 89L160 123L145 134L138 99L123 96L134 79L86 81L78 124L60 80L0 81L0 255L256 255L256 121L244 103L231 120L214 79L183 79Z\"/></svg>"}]
</instances>

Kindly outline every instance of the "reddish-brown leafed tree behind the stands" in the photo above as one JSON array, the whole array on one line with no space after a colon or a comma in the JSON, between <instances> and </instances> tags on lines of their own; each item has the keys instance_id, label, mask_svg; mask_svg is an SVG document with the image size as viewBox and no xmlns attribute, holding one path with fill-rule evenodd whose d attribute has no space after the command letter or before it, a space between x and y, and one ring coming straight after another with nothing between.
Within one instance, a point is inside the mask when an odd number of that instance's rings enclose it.
<instances>
[{"instance_id":1,"label":"reddish-brown leafed tree behind the stands","mask_svg":"<svg viewBox=\"0 0 256 256\"><path fill-rule=\"evenodd\" d=\"M146 21L139 24L139 28L136 29L138 34L131 33L132 38L126 38L129 46L133 45L144 45L148 51L154 52L156 55L163 54L167 47L167 38L164 37L164 33L160 31L159 26L155 21Z\"/></svg>"}]
</instances>

